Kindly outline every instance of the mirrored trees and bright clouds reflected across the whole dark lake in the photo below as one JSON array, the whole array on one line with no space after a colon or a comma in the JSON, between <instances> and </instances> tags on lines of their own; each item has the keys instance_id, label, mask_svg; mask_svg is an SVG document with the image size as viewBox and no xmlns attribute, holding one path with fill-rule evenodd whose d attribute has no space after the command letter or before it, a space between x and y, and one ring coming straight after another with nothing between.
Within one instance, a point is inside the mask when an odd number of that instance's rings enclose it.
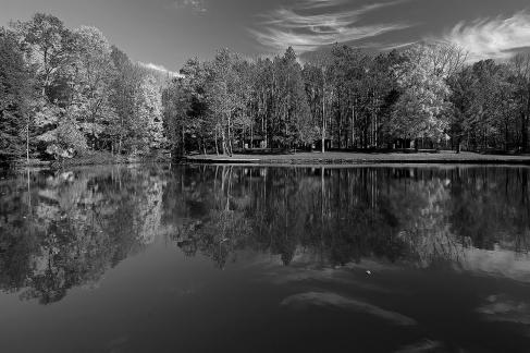
<instances>
[{"instance_id":1,"label":"mirrored trees and bright clouds reflected across the whole dark lake","mask_svg":"<svg viewBox=\"0 0 530 353\"><path fill-rule=\"evenodd\" d=\"M285 266L398 264L530 282L528 172L230 166L4 171L0 290L58 302L72 288L97 285L110 268L157 241L207 256L219 268L250 252ZM309 294L287 302L316 297ZM323 301L374 311L334 295ZM484 303L481 313L495 313L501 300Z\"/></svg>"}]
</instances>

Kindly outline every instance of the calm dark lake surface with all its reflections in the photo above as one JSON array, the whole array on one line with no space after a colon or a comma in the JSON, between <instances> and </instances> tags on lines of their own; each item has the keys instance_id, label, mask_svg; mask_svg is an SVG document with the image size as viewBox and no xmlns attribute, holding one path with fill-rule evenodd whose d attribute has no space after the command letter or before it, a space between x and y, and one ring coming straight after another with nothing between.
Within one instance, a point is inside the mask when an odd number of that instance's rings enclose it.
<instances>
[{"instance_id":1,"label":"calm dark lake surface with all its reflections","mask_svg":"<svg viewBox=\"0 0 530 353\"><path fill-rule=\"evenodd\" d=\"M0 172L0 351L528 352L529 172Z\"/></svg>"}]
</instances>

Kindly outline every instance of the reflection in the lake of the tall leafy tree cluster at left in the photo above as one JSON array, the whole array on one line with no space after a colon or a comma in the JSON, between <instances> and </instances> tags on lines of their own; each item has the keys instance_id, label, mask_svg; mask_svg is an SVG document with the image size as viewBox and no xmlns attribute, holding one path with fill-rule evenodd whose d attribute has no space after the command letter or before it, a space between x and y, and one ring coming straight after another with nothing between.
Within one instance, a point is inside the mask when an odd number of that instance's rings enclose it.
<instances>
[{"instance_id":1,"label":"reflection in the lake of the tall leafy tree cluster at left","mask_svg":"<svg viewBox=\"0 0 530 353\"><path fill-rule=\"evenodd\" d=\"M73 287L96 283L159 228L160 175L99 169L41 172L29 191L22 182L11 180L0 203L0 288L22 291L22 299L53 303Z\"/></svg>"}]
</instances>

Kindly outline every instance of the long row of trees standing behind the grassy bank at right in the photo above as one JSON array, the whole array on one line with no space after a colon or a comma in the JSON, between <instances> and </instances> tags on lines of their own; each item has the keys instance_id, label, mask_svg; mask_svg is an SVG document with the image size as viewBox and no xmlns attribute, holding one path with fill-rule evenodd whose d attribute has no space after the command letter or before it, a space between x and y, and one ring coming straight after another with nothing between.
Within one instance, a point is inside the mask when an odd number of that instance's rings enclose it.
<instances>
[{"instance_id":1,"label":"long row of trees standing behind the grassy bank at right","mask_svg":"<svg viewBox=\"0 0 530 353\"><path fill-rule=\"evenodd\" d=\"M301 63L303 62L303 63ZM189 150L317 147L528 150L530 56L470 63L446 42L377 56L335 45L299 60L189 60L164 89L169 138Z\"/></svg>"}]
</instances>

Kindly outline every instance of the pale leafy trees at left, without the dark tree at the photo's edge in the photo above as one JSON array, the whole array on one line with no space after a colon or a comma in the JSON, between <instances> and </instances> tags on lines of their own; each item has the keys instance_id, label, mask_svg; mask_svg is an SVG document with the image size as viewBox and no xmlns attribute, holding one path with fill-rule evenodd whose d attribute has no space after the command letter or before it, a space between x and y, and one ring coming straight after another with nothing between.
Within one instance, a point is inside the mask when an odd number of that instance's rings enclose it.
<instances>
[{"instance_id":1,"label":"pale leafy trees at left, without the dark tree at the photo's edge","mask_svg":"<svg viewBox=\"0 0 530 353\"><path fill-rule=\"evenodd\" d=\"M40 93L28 117L38 141L34 151L63 158L163 147L160 81L147 78L149 71L111 47L98 28L71 31L42 13L12 27Z\"/></svg>"}]
</instances>

